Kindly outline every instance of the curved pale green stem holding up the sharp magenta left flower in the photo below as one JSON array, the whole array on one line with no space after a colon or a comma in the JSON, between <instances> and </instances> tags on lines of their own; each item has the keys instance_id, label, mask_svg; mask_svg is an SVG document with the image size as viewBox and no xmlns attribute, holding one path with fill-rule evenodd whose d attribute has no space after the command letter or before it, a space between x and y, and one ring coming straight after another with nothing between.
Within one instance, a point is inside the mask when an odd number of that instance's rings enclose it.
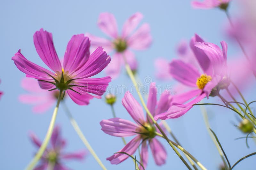
<instances>
[{"instance_id":1,"label":"curved pale green stem holding up the sharp magenta left flower","mask_svg":"<svg viewBox=\"0 0 256 170\"><path fill-rule=\"evenodd\" d=\"M59 93L57 104L56 104L56 107L53 111L52 119L51 119L50 125L48 127L47 133L44 137L44 141L43 141L42 145L40 146L38 152L36 153L36 156L32 159L32 161L26 167L26 170L32 170L36 166L37 162L42 157L42 155L43 155L43 153L44 153L44 151L45 151L45 149L46 149L46 147L49 143L49 140L52 136L52 131L53 131L53 128L54 128L57 113L58 113L58 110L59 110L61 95L62 95L62 91L60 91L60 93Z\"/></svg>"}]
</instances>

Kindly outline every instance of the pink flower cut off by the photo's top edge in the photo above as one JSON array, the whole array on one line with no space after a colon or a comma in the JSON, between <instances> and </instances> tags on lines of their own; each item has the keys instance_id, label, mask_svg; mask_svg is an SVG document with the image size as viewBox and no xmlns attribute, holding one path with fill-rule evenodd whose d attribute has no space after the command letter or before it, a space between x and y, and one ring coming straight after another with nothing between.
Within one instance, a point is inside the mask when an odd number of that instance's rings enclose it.
<instances>
[{"instance_id":1,"label":"pink flower cut off by the photo's top edge","mask_svg":"<svg viewBox=\"0 0 256 170\"><path fill-rule=\"evenodd\" d=\"M191 5L193 8L197 9L211 9L220 7L221 9L226 10L228 7L228 3L230 0L203 0L200 1L192 1Z\"/></svg>"}]
</instances>

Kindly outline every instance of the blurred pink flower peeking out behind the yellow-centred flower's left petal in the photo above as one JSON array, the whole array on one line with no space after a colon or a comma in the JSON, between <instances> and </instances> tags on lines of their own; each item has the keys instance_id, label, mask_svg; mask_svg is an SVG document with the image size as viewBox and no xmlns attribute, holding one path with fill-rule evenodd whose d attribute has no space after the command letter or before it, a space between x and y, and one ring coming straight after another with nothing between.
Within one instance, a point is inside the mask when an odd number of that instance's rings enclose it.
<instances>
[{"instance_id":1,"label":"blurred pink flower peeking out behind the yellow-centred flower's left petal","mask_svg":"<svg viewBox=\"0 0 256 170\"><path fill-rule=\"evenodd\" d=\"M176 53L180 60L193 64L197 66L195 62L195 55L193 54L192 50L188 46L188 42L185 40L181 40L176 48ZM172 76L170 74L170 65L169 60L164 58L158 58L155 60L155 68L156 68L156 78L159 80L171 80Z\"/></svg>"}]
</instances>

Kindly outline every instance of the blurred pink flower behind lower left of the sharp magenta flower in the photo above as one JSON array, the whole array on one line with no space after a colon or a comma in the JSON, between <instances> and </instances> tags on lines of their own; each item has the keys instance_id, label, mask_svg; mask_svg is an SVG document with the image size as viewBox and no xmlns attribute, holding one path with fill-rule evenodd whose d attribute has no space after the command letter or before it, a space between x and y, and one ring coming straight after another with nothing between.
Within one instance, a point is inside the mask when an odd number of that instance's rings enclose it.
<instances>
[{"instance_id":1,"label":"blurred pink flower behind lower left of the sharp magenta flower","mask_svg":"<svg viewBox=\"0 0 256 170\"><path fill-rule=\"evenodd\" d=\"M21 87L29 93L20 95L20 102L34 105L32 111L35 113L43 113L50 109L57 101L60 93L59 90L48 92L48 90L41 89L38 81L33 78L23 78Z\"/></svg>"}]
</instances>

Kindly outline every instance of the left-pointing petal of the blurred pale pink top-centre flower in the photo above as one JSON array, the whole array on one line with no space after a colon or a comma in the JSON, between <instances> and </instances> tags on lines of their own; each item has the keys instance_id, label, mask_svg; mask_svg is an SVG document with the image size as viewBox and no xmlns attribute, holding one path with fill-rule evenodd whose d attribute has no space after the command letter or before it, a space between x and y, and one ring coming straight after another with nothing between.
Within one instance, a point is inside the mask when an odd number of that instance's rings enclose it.
<instances>
[{"instance_id":1,"label":"left-pointing petal of the blurred pale pink top-centre flower","mask_svg":"<svg viewBox=\"0 0 256 170\"><path fill-rule=\"evenodd\" d=\"M102 46L107 53L110 53L114 48L113 43L108 39L100 38L89 33L85 33L84 36L89 37L92 47L97 48L98 46Z\"/></svg>"}]
</instances>

